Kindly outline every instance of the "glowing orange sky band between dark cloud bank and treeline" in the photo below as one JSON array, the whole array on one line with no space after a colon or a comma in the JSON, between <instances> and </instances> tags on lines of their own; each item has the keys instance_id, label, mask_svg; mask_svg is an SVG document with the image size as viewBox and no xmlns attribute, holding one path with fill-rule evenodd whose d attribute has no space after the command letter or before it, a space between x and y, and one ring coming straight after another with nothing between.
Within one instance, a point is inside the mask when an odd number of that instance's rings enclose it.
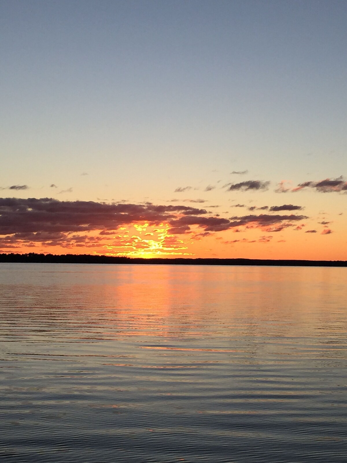
<instances>
[{"instance_id":1,"label":"glowing orange sky band between dark cloud bank and treeline","mask_svg":"<svg viewBox=\"0 0 347 463\"><path fill-rule=\"evenodd\" d=\"M250 259L347 260L343 229L324 234L305 233L309 227L300 223L283 232L266 231L268 227L238 227L206 233L198 227L183 234L170 234L170 225L148 222L121 226L116 231L68 233L66 241L55 243L21 241L0 248L1 252L44 254L95 254L127 257L216 257ZM327 227L327 225L325 225ZM0 238L1 241L1 238Z\"/></svg>"}]
</instances>

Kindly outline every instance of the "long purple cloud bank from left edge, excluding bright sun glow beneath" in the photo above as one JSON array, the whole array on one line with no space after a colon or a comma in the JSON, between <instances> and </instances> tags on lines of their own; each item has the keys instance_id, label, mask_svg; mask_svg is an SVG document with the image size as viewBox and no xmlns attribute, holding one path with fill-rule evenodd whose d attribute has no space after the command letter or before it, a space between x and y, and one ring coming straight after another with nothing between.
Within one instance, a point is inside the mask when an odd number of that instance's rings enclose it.
<instances>
[{"instance_id":1,"label":"long purple cloud bank from left edge, excluding bright sun glow beneath","mask_svg":"<svg viewBox=\"0 0 347 463\"><path fill-rule=\"evenodd\" d=\"M307 217L294 214L251 214L227 219L218 214L213 216L206 209L184 205L0 198L0 235L3 237L0 238L0 247L13 247L23 242L62 245L69 242L72 236L74 243L83 245L88 232L102 232L105 235L105 232L116 231L119 227L144 222L150 226L165 223L170 227L169 233L180 235L195 229L211 233L236 227L277 232L303 219ZM101 239L104 238L94 237L96 244Z\"/></svg>"}]
</instances>

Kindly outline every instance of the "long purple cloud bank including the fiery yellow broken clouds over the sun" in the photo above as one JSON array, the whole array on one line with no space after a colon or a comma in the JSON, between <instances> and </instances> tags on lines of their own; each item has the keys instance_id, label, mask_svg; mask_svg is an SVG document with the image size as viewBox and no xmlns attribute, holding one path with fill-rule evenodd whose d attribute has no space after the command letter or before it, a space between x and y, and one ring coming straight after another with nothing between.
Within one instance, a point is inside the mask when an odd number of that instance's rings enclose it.
<instances>
[{"instance_id":1,"label":"long purple cloud bank including the fiery yellow broken clouds over the sun","mask_svg":"<svg viewBox=\"0 0 347 463\"><path fill-rule=\"evenodd\" d=\"M149 240L153 243L160 240L162 252L173 249L178 252L186 249L179 238L186 233L192 233L194 239L229 229L240 232L260 228L272 233L294 226L303 219L307 217L294 214L250 214L227 219L212 216L206 209L183 204L0 198L0 248L10 249L24 244L67 249L100 248L107 243L112 252L135 255L131 253L149 249ZM149 232L157 233L161 238L140 237L147 226L153 227ZM136 229L133 236L128 231L130 227Z\"/></svg>"}]
</instances>

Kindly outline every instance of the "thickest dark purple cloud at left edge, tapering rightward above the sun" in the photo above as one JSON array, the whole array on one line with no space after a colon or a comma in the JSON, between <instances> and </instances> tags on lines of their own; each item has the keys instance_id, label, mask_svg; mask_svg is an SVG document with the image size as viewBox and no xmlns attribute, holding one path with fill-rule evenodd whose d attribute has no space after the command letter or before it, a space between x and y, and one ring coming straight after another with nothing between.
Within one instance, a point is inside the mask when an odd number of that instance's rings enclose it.
<instances>
[{"instance_id":1,"label":"thickest dark purple cloud at left edge, tapering rightward above the sun","mask_svg":"<svg viewBox=\"0 0 347 463\"><path fill-rule=\"evenodd\" d=\"M71 233L117 230L146 221L159 225L177 217L207 214L191 206L59 201L52 198L0 198L0 235L15 233Z\"/></svg>"}]
</instances>

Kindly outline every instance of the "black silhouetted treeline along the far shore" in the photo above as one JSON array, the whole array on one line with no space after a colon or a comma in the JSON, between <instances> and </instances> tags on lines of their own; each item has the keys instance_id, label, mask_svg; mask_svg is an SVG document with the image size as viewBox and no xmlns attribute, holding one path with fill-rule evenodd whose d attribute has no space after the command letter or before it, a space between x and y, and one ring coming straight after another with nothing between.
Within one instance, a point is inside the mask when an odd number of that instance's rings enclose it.
<instances>
[{"instance_id":1,"label":"black silhouetted treeline along the far shore","mask_svg":"<svg viewBox=\"0 0 347 463\"><path fill-rule=\"evenodd\" d=\"M118 264L170 264L170 265L281 265L301 267L347 267L347 261L308 261L275 259L201 259L190 257L112 257L89 254L0 254L0 262L23 263L118 263Z\"/></svg>"}]
</instances>

